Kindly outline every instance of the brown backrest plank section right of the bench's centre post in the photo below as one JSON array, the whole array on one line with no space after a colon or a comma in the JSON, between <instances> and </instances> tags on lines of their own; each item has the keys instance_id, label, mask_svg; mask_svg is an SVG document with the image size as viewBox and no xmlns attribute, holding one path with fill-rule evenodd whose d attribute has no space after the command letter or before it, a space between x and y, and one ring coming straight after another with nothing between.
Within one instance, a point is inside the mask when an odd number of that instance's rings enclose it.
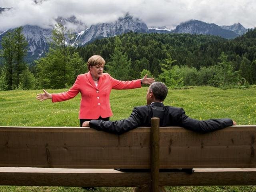
<instances>
[{"instance_id":1,"label":"brown backrest plank section right of the bench's centre post","mask_svg":"<svg viewBox=\"0 0 256 192\"><path fill-rule=\"evenodd\" d=\"M232 126L209 134L160 129L161 167L256 168L255 138L256 126Z\"/></svg>"}]
</instances>

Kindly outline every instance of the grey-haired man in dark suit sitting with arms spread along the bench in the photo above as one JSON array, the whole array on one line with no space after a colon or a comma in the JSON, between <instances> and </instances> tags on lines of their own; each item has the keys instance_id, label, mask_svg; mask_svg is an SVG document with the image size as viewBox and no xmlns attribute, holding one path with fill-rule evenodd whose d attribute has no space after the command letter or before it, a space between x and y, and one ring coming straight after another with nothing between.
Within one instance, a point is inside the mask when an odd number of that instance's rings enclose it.
<instances>
[{"instance_id":1,"label":"grey-haired man in dark suit sitting with arms spread along the bench","mask_svg":"<svg viewBox=\"0 0 256 192\"><path fill-rule=\"evenodd\" d=\"M152 83L146 95L147 105L135 107L132 114L127 119L118 121L104 121L104 120L91 120L82 124L83 127L94 128L114 134L122 134L139 126L150 126L152 117L160 118L160 126L181 126L196 132L211 132L219 130L228 126L236 125L231 119L210 119L210 120L196 120L186 116L182 108L164 106L163 101L168 93L168 88L162 82ZM128 172L148 172L149 170L137 169L117 169L120 171ZM193 169L168 169L160 170L168 172L187 172L191 174ZM161 192L165 192L164 187L159 187ZM140 186L134 188L136 191L149 191L149 186Z\"/></svg>"}]
</instances>

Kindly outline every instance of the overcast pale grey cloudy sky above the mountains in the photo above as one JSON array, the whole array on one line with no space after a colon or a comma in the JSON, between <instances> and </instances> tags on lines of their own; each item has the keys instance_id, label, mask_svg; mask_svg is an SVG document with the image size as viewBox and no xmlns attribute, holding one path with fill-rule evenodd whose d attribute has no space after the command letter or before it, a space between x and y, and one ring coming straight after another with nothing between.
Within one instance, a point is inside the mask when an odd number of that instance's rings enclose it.
<instances>
[{"instance_id":1,"label":"overcast pale grey cloudy sky above the mountains","mask_svg":"<svg viewBox=\"0 0 256 192\"><path fill-rule=\"evenodd\" d=\"M129 12L148 27L169 28L190 19L217 25L240 22L256 26L255 0L0 0L0 7L11 10L0 14L0 30L25 24L47 27L58 16L76 18L88 26L110 22Z\"/></svg>"}]
</instances>

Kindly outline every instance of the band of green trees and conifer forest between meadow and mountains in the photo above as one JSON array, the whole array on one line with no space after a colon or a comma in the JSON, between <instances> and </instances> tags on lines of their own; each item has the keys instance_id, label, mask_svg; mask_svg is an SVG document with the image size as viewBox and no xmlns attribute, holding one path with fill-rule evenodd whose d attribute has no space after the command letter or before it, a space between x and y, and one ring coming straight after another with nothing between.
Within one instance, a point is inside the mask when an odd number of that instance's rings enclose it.
<instances>
[{"instance_id":1,"label":"band of green trees and conifer forest between meadow and mountains","mask_svg":"<svg viewBox=\"0 0 256 192\"><path fill-rule=\"evenodd\" d=\"M210 85L248 86L256 83L256 29L233 40L192 34L140 34L128 32L74 48L57 24L46 56L28 67L22 28L2 38L0 90L64 88L86 72L90 56L100 54L105 72L120 80L148 73L170 87Z\"/></svg>"}]
</instances>

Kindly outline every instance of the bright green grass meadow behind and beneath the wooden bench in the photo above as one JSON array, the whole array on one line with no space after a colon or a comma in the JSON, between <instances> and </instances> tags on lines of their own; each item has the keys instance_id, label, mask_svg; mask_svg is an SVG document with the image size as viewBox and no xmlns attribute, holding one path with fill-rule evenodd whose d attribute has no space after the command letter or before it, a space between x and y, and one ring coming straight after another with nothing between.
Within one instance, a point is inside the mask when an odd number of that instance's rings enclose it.
<instances>
[{"instance_id":1,"label":"bright green grass meadow behind and beneath the wooden bench","mask_svg":"<svg viewBox=\"0 0 256 192\"><path fill-rule=\"evenodd\" d=\"M66 91L47 90L50 93ZM0 126L79 126L80 94L75 98L52 103L40 102L36 94L42 90L0 91ZM112 90L110 103L114 116L128 117L134 106L146 104L147 87L134 90ZM191 118L232 118L237 124L256 124L256 86L246 90L221 90L194 87L169 90L165 105L184 108ZM256 186L166 187L172 192L256 192ZM0 192L84 192L80 187L0 186ZM96 192L130 192L132 188L96 188Z\"/></svg>"}]
</instances>

